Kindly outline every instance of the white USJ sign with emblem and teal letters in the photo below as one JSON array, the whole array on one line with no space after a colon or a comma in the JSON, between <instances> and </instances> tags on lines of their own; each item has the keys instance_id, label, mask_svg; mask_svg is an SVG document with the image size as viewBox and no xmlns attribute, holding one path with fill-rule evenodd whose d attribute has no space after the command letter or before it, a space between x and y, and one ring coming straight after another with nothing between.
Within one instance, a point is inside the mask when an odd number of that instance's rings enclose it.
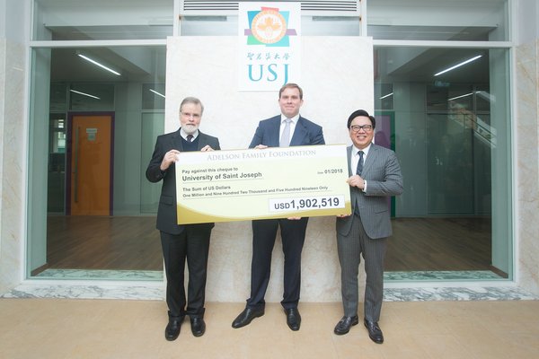
<instances>
[{"instance_id":1,"label":"white USJ sign with emblem and teal letters","mask_svg":"<svg viewBox=\"0 0 539 359\"><path fill-rule=\"evenodd\" d=\"M240 91L300 81L300 11L299 3L240 3Z\"/></svg>"}]
</instances>

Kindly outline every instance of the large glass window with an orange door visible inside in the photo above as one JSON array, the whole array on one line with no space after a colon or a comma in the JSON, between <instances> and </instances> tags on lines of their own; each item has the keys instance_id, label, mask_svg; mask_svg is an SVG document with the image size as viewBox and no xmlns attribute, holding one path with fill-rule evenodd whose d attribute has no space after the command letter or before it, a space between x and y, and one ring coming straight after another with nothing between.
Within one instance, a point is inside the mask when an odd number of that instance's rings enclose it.
<instances>
[{"instance_id":1,"label":"large glass window with an orange door visible inside","mask_svg":"<svg viewBox=\"0 0 539 359\"><path fill-rule=\"evenodd\" d=\"M32 50L31 276L163 280L155 231L160 184L144 172L163 133L165 53L164 47Z\"/></svg>"}]
</instances>

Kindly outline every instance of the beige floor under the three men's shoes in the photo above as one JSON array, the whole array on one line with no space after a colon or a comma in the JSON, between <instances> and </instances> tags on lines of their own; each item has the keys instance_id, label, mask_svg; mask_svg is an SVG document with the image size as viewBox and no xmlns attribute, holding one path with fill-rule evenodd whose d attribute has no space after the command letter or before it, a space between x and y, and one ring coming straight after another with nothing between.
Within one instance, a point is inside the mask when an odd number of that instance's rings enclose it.
<instances>
[{"instance_id":1,"label":"beige floor under the three men's shoes","mask_svg":"<svg viewBox=\"0 0 539 359\"><path fill-rule=\"evenodd\" d=\"M0 358L538 358L539 301L384 302L376 345L362 325L336 336L341 306L300 303L301 329L278 303L251 325L231 322L243 303L210 302L207 331L163 337L166 304L152 300L0 298ZM361 313L359 313L361 315Z\"/></svg>"}]
</instances>

